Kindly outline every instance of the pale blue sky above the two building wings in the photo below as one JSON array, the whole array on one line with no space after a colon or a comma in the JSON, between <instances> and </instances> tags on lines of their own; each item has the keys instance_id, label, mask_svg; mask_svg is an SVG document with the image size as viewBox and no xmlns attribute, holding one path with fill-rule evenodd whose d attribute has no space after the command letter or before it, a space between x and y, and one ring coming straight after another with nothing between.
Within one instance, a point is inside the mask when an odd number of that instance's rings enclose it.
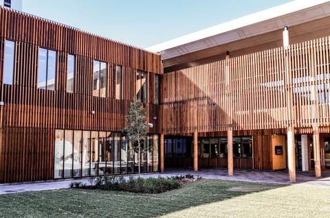
<instances>
[{"instance_id":1,"label":"pale blue sky above the two building wings","mask_svg":"<svg viewBox=\"0 0 330 218\"><path fill-rule=\"evenodd\" d=\"M146 48L290 0L23 0L23 12Z\"/></svg>"}]
</instances>

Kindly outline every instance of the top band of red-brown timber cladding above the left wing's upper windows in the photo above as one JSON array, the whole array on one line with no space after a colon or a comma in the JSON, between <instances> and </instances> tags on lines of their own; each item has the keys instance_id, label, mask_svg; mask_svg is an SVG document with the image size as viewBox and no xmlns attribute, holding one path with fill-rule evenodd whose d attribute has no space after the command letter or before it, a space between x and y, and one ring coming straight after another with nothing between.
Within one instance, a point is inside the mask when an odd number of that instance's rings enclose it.
<instances>
[{"instance_id":1,"label":"top band of red-brown timber cladding above the left wing's upper windows","mask_svg":"<svg viewBox=\"0 0 330 218\"><path fill-rule=\"evenodd\" d=\"M37 16L0 8L0 36L104 62L160 73L160 56Z\"/></svg>"}]
</instances>

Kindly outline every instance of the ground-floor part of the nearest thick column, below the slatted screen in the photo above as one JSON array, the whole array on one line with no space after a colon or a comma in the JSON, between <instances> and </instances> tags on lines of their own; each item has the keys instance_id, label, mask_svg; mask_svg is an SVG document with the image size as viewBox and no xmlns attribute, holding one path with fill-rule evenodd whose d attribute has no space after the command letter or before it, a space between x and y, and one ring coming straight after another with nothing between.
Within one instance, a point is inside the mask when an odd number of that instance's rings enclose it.
<instances>
[{"instance_id":1,"label":"ground-floor part of the nearest thick column, below the slatted screen","mask_svg":"<svg viewBox=\"0 0 330 218\"><path fill-rule=\"evenodd\" d=\"M287 166L290 182L296 182L296 149L294 144L294 128L287 128Z\"/></svg>"}]
</instances>

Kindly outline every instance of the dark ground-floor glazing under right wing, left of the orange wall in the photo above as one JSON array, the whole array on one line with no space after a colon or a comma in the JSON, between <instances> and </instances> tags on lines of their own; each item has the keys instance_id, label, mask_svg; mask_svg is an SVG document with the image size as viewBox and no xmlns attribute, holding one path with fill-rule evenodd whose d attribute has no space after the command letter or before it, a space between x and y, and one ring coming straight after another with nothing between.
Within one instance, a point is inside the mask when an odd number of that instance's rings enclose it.
<instances>
[{"instance_id":1,"label":"dark ground-floor glazing under right wing, left of the orange wall","mask_svg":"<svg viewBox=\"0 0 330 218\"><path fill-rule=\"evenodd\" d=\"M165 167L193 166L191 137L166 136L164 139ZM226 168L228 148L226 137L198 138L198 162L201 168ZM252 136L233 138L234 167L252 169Z\"/></svg>"}]
</instances>

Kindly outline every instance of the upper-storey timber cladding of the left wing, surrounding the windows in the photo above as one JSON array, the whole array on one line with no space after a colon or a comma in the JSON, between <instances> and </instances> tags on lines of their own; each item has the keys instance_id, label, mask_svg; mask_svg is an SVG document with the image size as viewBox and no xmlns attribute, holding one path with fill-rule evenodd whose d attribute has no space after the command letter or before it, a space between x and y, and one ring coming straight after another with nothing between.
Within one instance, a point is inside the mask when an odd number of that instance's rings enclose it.
<instances>
[{"instance_id":1,"label":"upper-storey timber cladding of the left wing, surrounding the windows","mask_svg":"<svg viewBox=\"0 0 330 218\"><path fill-rule=\"evenodd\" d=\"M160 132L155 73L160 56L100 36L0 8L1 125L3 127L119 131L136 97L136 72L148 75L147 119ZM12 85L3 84L4 42L15 42ZM39 48L56 51L55 90L36 88ZM67 58L74 56L74 93L67 93ZM93 61L107 63L107 97L93 96ZM122 99L115 99L115 66L122 66Z\"/></svg>"}]
</instances>

